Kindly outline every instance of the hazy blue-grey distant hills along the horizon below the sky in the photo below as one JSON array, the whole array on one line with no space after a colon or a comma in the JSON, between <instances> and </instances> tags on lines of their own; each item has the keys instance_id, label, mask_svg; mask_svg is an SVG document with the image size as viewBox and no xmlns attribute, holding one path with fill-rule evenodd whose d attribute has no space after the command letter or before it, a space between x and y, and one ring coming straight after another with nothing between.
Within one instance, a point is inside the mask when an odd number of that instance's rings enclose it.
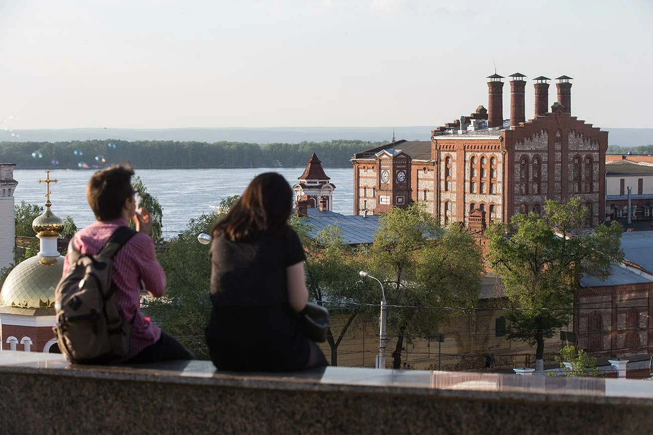
<instances>
[{"instance_id":1,"label":"hazy blue-grey distant hills along the horizon below the sky","mask_svg":"<svg viewBox=\"0 0 653 435\"><path fill-rule=\"evenodd\" d=\"M429 140L433 126L395 127L397 139ZM653 143L653 128L603 128L611 145L637 147ZM0 131L0 142L67 142L71 140L172 140L180 142L300 143L331 140L389 142L392 127L270 127L270 128L62 128Z\"/></svg>"}]
</instances>

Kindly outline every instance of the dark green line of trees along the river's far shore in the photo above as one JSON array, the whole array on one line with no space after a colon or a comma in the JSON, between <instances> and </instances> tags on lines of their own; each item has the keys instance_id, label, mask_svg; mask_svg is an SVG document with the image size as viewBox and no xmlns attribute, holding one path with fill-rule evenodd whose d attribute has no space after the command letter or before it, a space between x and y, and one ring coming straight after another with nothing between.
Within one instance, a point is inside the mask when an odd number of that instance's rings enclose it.
<instances>
[{"instance_id":1,"label":"dark green line of trees along the river's far shore","mask_svg":"<svg viewBox=\"0 0 653 435\"><path fill-rule=\"evenodd\" d=\"M84 140L0 142L0 161L19 168L104 168L129 162L140 169L291 168L317 153L327 168L351 167L349 159L381 142L332 140L301 143Z\"/></svg>"}]
</instances>

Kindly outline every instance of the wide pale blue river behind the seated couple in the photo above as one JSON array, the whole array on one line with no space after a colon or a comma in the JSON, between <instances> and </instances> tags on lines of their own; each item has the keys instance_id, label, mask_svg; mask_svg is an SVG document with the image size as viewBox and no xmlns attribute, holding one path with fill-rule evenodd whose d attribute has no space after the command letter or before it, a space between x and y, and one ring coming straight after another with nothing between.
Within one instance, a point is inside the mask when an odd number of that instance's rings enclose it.
<instances>
[{"instance_id":1,"label":"wide pale blue river behind the seated couple","mask_svg":"<svg viewBox=\"0 0 653 435\"><path fill-rule=\"evenodd\" d=\"M275 171L281 173L291 185L302 175L304 168L254 168L254 169L168 169L136 170L148 192L163 207L163 230L166 238L173 237L185 228L188 220L202 213L210 213L212 205L219 205L227 196L241 194L257 173ZM333 211L351 215L353 210L353 172L351 168L325 168L336 185ZM50 185L52 211L60 218L71 216L78 228L93 222L93 212L86 202L86 183L92 170L50 171L50 178L58 183ZM18 187L14 196L16 203L25 201L42 205L45 202L45 178L43 170L14 171Z\"/></svg>"}]
</instances>

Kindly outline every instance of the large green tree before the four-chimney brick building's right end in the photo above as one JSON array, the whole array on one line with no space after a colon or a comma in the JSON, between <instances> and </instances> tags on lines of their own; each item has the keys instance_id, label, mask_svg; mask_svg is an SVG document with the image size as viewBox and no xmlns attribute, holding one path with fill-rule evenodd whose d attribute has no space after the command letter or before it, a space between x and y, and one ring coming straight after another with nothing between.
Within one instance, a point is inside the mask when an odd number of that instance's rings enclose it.
<instances>
[{"instance_id":1,"label":"large green tree before the four-chimney brick building's right end","mask_svg":"<svg viewBox=\"0 0 653 435\"><path fill-rule=\"evenodd\" d=\"M522 340L535 350L535 370L544 367L544 340L569 323L573 295L582 274L607 278L611 262L623 260L616 221L594 232L582 228L586 209L579 198L547 201L543 217L515 215L510 224L488 228L488 260L503 280L514 308L506 338Z\"/></svg>"}]
</instances>

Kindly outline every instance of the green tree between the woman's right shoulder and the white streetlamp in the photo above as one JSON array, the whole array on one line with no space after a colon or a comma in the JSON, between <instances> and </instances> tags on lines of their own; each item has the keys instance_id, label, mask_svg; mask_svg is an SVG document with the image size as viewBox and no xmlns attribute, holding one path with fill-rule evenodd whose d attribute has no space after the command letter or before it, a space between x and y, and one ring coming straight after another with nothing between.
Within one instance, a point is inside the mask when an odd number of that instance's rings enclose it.
<instances>
[{"instance_id":1,"label":"green tree between the woman's right shoulder and the white streetlamp","mask_svg":"<svg viewBox=\"0 0 653 435\"><path fill-rule=\"evenodd\" d=\"M338 346L355 318L370 312L364 303L379 301L379 291L370 280L361 280L358 271L366 269L366 262L357 248L345 245L342 229L328 225L314 239L308 237L310 228L296 217L291 226L300 235L306 250L306 275L310 299L319 305L328 305L330 315L342 314L347 318L340 331L334 326L327 329L327 342L331 350L331 365L338 365Z\"/></svg>"}]
</instances>

